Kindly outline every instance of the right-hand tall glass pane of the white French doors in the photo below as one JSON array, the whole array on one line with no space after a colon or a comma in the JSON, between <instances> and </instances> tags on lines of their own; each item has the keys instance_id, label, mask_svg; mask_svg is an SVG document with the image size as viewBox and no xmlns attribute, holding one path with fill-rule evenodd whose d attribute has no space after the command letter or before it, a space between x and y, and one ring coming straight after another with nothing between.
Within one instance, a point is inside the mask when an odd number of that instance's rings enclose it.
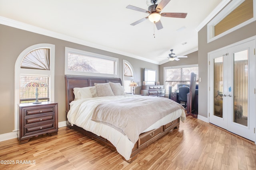
<instances>
[{"instance_id":1,"label":"right-hand tall glass pane of the white French doors","mask_svg":"<svg viewBox=\"0 0 256 170\"><path fill-rule=\"evenodd\" d=\"M248 50L234 53L234 119L248 125Z\"/></svg>"}]
</instances>

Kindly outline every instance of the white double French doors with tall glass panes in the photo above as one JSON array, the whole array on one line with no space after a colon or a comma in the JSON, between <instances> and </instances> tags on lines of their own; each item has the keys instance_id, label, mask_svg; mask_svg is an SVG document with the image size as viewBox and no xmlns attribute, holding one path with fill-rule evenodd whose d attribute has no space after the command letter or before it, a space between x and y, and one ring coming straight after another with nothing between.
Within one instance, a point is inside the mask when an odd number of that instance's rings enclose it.
<instances>
[{"instance_id":1,"label":"white double French doors with tall glass panes","mask_svg":"<svg viewBox=\"0 0 256 170\"><path fill-rule=\"evenodd\" d=\"M255 41L209 55L209 121L255 141Z\"/></svg>"}]
</instances>

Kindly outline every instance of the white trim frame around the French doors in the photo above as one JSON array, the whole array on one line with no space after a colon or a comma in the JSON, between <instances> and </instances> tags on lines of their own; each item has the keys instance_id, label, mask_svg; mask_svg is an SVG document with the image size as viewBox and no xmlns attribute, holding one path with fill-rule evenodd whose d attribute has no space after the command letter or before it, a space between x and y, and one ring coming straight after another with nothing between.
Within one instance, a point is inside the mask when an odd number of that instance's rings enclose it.
<instances>
[{"instance_id":1,"label":"white trim frame around the French doors","mask_svg":"<svg viewBox=\"0 0 256 170\"><path fill-rule=\"evenodd\" d=\"M247 38L247 39L244 39L242 41L238 41L236 43L233 43L233 44L230 44L230 45L227 45L225 47L222 47L220 49L216 49L214 51L211 51L211 52L208 52L208 80L207 80L207 83L208 83L208 105L207 105L207 111L208 111L208 122L210 123L210 55L214 54L214 53L220 53L220 51L225 51L226 49L228 48L231 48L231 47L234 47L234 46L237 46L237 45L240 45L240 44L243 44L243 43L246 43L248 41L254 41L254 44L255 44L255 47L254 47L254 51L256 49L256 36L253 36L253 37L250 37L250 38ZM254 52L254 56L255 56L255 52ZM256 59L254 60L254 65L256 66ZM254 70L255 71L255 75L256 75L256 69ZM256 89L256 78L254 79L254 101L256 101L256 94L255 94L255 89ZM256 106L256 102L255 102L255 106ZM256 126L256 115L254 116L254 125ZM256 145L256 127L254 127L254 143Z\"/></svg>"}]
</instances>

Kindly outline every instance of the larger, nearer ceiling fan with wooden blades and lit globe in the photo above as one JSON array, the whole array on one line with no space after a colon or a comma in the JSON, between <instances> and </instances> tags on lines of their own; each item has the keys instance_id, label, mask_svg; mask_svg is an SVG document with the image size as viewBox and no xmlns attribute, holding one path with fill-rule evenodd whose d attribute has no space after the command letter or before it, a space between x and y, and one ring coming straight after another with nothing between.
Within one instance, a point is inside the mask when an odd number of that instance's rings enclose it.
<instances>
[{"instance_id":1,"label":"larger, nearer ceiling fan with wooden blades and lit globe","mask_svg":"<svg viewBox=\"0 0 256 170\"><path fill-rule=\"evenodd\" d=\"M160 13L162 9L170 2L170 0L146 0L146 3L151 2L152 5L148 7L148 10L144 10L142 8L138 8L136 6L128 5L126 8L131 10L136 10L139 12L144 12L149 14L149 16L142 18L138 21L135 21L134 23L131 23L130 25L137 25L138 23L141 23L142 21L145 21L149 19L151 22L156 24L156 28L162 29L163 25L160 21L161 16L162 17L172 17L172 18L186 18L187 13L181 13L181 12L165 12Z\"/></svg>"}]
</instances>

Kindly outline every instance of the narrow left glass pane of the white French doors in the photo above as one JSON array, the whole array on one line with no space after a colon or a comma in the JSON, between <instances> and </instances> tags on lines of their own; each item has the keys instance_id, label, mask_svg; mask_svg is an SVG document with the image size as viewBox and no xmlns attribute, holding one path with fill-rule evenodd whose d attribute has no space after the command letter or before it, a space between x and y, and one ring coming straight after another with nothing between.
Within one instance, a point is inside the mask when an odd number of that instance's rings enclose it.
<instances>
[{"instance_id":1,"label":"narrow left glass pane of the white French doors","mask_svg":"<svg viewBox=\"0 0 256 170\"><path fill-rule=\"evenodd\" d=\"M223 118L223 57L214 59L214 115Z\"/></svg>"}]
</instances>

